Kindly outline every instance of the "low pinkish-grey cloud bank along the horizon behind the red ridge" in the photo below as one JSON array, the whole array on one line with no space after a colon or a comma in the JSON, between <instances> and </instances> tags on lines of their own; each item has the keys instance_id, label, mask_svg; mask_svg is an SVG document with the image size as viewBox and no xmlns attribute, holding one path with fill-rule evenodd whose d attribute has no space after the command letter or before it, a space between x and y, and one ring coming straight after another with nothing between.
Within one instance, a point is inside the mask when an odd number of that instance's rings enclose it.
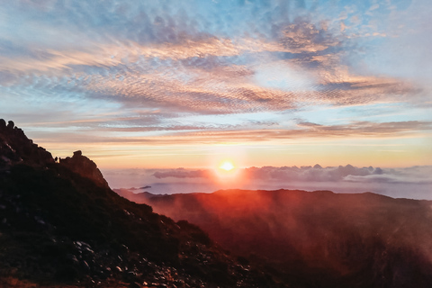
<instances>
[{"instance_id":1,"label":"low pinkish-grey cloud bank along the horizon behind the red ridge","mask_svg":"<svg viewBox=\"0 0 432 288\"><path fill-rule=\"evenodd\" d=\"M141 188L150 193L211 193L220 189L331 190L373 192L394 198L432 200L432 166L400 168L356 166L263 166L240 168L229 177L211 169L105 169L112 188Z\"/></svg>"}]
</instances>

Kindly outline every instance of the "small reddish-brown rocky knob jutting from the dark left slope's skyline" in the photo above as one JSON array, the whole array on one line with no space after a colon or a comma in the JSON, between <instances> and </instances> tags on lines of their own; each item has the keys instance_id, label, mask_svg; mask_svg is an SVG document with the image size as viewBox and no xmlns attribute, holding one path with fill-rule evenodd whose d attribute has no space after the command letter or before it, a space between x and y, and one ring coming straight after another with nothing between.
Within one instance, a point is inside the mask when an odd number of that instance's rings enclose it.
<instances>
[{"instance_id":1,"label":"small reddish-brown rocky knob jutting from the dark left slope's skyline","mask_svg":"<svg viewBox=\"0 0 432 288\"><path fill-rule=\"evenodd\" d=\"M81 150L75 151L74 156L72 157L66 157L64 159L60 158L59 163L62 166L66 166L76 174L93 180L94 183L100 186L108 187L108 183L103 178L103 175L97 168L96 164L88 157L83 156Z\"/></svg>"}]
</instances>

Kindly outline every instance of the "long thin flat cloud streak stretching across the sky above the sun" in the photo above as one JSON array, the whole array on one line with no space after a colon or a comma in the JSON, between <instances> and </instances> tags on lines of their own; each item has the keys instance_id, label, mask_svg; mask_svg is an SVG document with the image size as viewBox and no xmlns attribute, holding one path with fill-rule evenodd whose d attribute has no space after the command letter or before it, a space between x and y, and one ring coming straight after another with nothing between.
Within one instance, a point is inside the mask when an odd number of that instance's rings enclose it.
<instances>
[{"instance_id":1,"label":"long thin flat cloud streak stretching across the sky above the sun","mask_svg":"<svg viewBox=\"0 0 432 288\"><path fill-rule=\"evenodd\" d=\"M277 123L256 122L243 125L148 125L145 122L121 122L113 120L68 122L73 130L32 131L32 137L44 139L45 142L69 143L112 143L151 146L159 145L188 145L191 143L219 144L219 143L250 143L266 142L281 139L386 139L395 137L421 136L432 130L430 121L401 121L374 123L357 121L347 125L320 125L311 122L300 122L296 129L278 129ZM60 127L61 125L58 125ZM275 126L276 128L273 128ZM76 127L87 128L77 130ZM139 135L124 135L116 137L115 132L149 133ZM151 134L152 132L161 132Z\"/></svg>"}]
</instances>

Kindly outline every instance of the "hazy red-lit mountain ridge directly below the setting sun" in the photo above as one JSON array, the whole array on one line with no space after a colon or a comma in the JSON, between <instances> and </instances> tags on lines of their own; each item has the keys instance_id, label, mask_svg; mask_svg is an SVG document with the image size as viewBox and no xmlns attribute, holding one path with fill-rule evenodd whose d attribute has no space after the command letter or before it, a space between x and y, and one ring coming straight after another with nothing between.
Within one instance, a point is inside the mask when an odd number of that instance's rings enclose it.
<instances>
[{"instance_id":1,"label":"hazy red-lit mountain ridge directly below the setting sun","mask_svg":"<svg viewBox=\"0 0 432 288\"><path fill-rule=\"evenodd\" d=\"M138 196L136 197L138 199ZM374 193L241 191L148 199L306 287L430 287L431 202Z\"/></svg>"}]
</instances>

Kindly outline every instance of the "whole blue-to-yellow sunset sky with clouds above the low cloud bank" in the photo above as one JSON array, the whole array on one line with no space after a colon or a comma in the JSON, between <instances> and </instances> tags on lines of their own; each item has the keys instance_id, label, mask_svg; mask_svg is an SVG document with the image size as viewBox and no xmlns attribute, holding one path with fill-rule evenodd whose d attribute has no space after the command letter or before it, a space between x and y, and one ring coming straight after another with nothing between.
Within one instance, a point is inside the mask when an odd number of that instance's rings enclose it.
<instances>
[{"instance_id":1,"label":"whole blue-to-yellow sunset sky with clouds above the low cloud bank","mask_svg":"<svg viewBox=\"0 0 432 288\"><path fill-rule=\"evenodd\" d=\"M114 185L227 159L419 184L430 14L428 0L0 0L0 118L53 156L81 149Z\"/></svg>"}]
</instances>

